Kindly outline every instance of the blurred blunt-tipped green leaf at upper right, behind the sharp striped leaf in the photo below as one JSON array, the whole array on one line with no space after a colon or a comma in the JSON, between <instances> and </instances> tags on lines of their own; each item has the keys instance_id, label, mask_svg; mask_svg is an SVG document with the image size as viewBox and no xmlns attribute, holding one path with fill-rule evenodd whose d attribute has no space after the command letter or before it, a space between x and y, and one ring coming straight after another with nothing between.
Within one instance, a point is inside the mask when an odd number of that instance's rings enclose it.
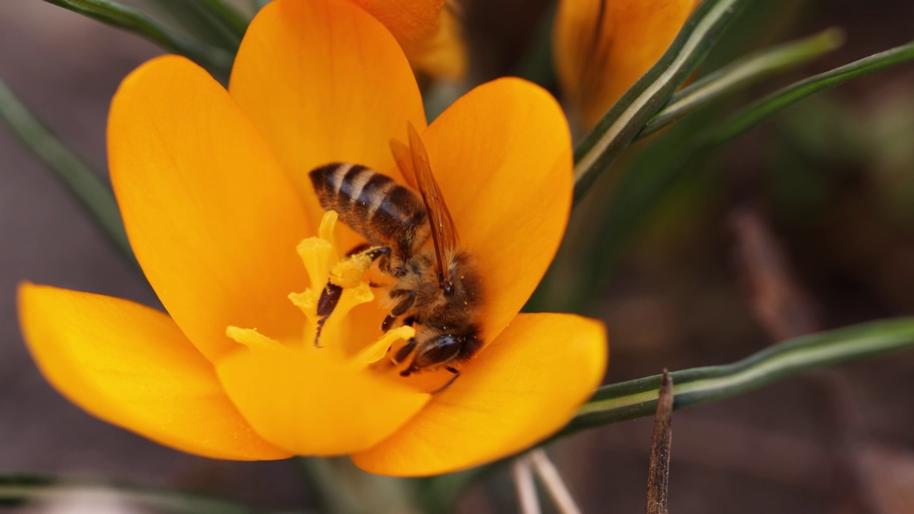
<instances>
[{"instance_id":1,"label":"blurred blunt-tipped green leaf at upper right, behind the sharp striped leaf","mask_svg":"<svg viewBox=\"0 0 914 514\"><path fill-rule=\"evenodd\" d=\"M637 139L654 134L734 91L819 58L841 47L844 41L844 31L829 28L812 37L784 43L774 48L765 48L739 59L675 93L664 110L657 112L651 121L644 125Z\"/></svg>"}]
</instances>

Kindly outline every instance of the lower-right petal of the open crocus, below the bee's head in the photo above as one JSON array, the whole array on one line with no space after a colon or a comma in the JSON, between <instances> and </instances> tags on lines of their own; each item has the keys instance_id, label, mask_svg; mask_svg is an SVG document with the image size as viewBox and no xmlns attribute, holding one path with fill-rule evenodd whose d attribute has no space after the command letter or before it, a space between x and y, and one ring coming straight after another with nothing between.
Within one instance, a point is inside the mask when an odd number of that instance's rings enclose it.
<instances>
[{"instance_id":1,"label":"lower-right petal of the open crocus, below the bee's head","mask_svg":"<svg viewBox=\"0 0 914 514\"><path fill-rule=\"evenodd\" d=\"M352 455L372 473L448 473L514 454L568 423L606 369L600 322L521 314L387 440Z\"/></svg>"}]
</instances>

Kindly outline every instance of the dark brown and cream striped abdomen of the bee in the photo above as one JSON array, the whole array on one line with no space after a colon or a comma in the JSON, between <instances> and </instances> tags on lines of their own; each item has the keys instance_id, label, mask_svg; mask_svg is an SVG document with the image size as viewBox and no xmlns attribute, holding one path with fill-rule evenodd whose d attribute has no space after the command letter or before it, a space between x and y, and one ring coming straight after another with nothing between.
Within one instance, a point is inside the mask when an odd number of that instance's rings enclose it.
<instances>
[{"instance_id":1,"label":"dark brown and cream striped abdomen of the bee","mask_svg":"<svg viewBox=\"0 0 914 514\"><path fill-rule=\"evenodd\" d=\"M429 237L425 204L416 193L365 166L334 163L309 174L324 210L369 242L409 258Z\"/></svg>"}]
</instances>

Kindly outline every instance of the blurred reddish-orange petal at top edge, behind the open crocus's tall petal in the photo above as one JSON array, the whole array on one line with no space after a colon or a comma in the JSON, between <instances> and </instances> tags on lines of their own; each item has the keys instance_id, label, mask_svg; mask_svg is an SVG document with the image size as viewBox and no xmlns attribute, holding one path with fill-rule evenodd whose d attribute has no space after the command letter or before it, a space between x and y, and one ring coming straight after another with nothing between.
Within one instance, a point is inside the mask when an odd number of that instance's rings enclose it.
<instances>
[{"instance_id":1,"label":"blurred reddish-orange petal at top edge, behind the open crocus's tall petal","mask_svg":"<svg viewBox=\"0 0 914 514\"><path fill-rule=\"evenodd\" d=\"M445 5L445 0L353 1L388 27L414 68L446 79L460 79L466 73L455 5Z\"/></svg>"}]
</instances>

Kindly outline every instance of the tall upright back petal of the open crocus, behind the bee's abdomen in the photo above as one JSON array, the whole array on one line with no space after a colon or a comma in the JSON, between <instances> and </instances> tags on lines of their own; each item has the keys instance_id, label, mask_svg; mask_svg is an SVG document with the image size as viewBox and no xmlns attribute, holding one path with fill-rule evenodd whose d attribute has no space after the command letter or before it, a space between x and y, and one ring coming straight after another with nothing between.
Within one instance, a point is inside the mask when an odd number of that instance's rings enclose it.
<instances>
[{"instance_id":1,"label":"tall upright back petal of the open crocus, behind the bee's abdomen","mask_svg":"<svg viewBox=\"0 0 914 514\"><path fill-rule=\"evenodd\" d=\"M314 167L356 163L399 178L390 138L405 141L407 121L425 127L397 41L342 0L274 0L261 9L229 91L292 174L312 220L324 213L308 178Z\"/></svg>"}]
</instances>

